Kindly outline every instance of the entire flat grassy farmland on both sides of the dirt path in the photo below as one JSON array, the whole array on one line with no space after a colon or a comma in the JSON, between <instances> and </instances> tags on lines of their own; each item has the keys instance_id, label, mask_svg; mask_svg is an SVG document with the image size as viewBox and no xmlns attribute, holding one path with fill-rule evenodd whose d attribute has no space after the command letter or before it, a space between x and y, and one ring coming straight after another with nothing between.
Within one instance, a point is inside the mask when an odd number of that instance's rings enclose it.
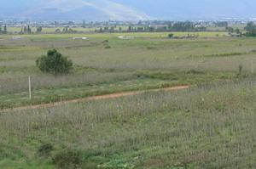
<instances>
[{"instance_id":1,"label":"entire flat grassy farmland on both sides of the dirt path","mask_svg":"<svg viewBox=\"0 0 256 169\"><path fill-rule=\"evenodd\" d=\"M255 168L256 39L174 32L188 34L198 38L1 36L0 168ZM38 70L36 59L52 48L73 60L70 74ZM148 89L160 90L29 107Z\"/></svg>"}]
</instances>

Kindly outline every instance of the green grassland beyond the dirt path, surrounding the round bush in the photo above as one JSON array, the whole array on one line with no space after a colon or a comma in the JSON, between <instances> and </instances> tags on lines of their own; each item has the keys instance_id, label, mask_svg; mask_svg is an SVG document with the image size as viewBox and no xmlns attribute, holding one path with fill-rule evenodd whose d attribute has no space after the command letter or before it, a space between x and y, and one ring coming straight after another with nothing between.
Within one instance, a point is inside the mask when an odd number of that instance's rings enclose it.
<instances>
[{"instance_id":1,"label":"green grassland beyond the dirt path, surrounding the round bush","mask_svg":"<svg viewBox=\"0 0 256 169\"><path fill-rule=\"evenodd\" d=\"M199 32L196 39L168 39L164 32L2 36L0 107L254 76L256 40L216 33ZM50 48L73 60L71 75L55 78L38 71L35 60ZM27 76L32 76L32 101L27 98ZM119 87L125 82L128 87Z\"/></svg>"}]
</instances>

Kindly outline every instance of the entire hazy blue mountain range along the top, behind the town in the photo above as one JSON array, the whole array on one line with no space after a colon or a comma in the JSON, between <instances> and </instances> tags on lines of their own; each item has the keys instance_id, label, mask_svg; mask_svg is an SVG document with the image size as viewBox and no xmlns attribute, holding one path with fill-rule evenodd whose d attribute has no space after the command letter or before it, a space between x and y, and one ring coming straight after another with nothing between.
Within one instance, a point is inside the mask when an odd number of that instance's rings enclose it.
<instances>
[{"instance_id":1,"label":"entire hazy blue mountain range along the top, behind the town","mask_svg":"<svg viewBox=\"0 0 256 169\"><path fill-rule=\"evenodd\" d=\"M2 0L0 18L206 20L256 18L255 0Z\"/></svg>"}]
</instances>

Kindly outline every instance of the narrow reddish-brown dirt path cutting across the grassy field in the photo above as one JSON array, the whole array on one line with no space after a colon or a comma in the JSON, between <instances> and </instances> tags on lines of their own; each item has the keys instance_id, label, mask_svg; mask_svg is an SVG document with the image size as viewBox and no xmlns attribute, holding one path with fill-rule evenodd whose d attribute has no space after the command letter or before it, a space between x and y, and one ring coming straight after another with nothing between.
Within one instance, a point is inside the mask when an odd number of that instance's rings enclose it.
<instances>
[{"instance_id":1,"label":"narrow reddish-brown dirt path cutting across the grassy field","mask_svg":"<svg viewBox=\"0 0 256 169\"><path fill-rule=\"evenodd\" d=\"M37 105L16 107L16 108L12 108L12 109L0 110L0 112L4 113L4 112L9 112L9 111L35 110L35 109L47 108L47 107L52 107L52 106L61 105L61 104L81 103L81 102L101 100L101 99L115 99L115 98L121 98L121 97L125 97L125 96L134 96L134 95L146 93L146 92L174 91L174 90L182 90L182 89L188 89L188 88L189 88L189 86L177 86L177 87L166 87L166 88L150 89L150 90L143 90L143 91L112 93L112 94L106 94L106 95L91 96L91 97L87 97L84 99L71 99L71 100L67 100L67 101L60 101L60 102L55 102L55 103L50 103L50 104L37 104Z\"/></svg>"}]
</instances>

